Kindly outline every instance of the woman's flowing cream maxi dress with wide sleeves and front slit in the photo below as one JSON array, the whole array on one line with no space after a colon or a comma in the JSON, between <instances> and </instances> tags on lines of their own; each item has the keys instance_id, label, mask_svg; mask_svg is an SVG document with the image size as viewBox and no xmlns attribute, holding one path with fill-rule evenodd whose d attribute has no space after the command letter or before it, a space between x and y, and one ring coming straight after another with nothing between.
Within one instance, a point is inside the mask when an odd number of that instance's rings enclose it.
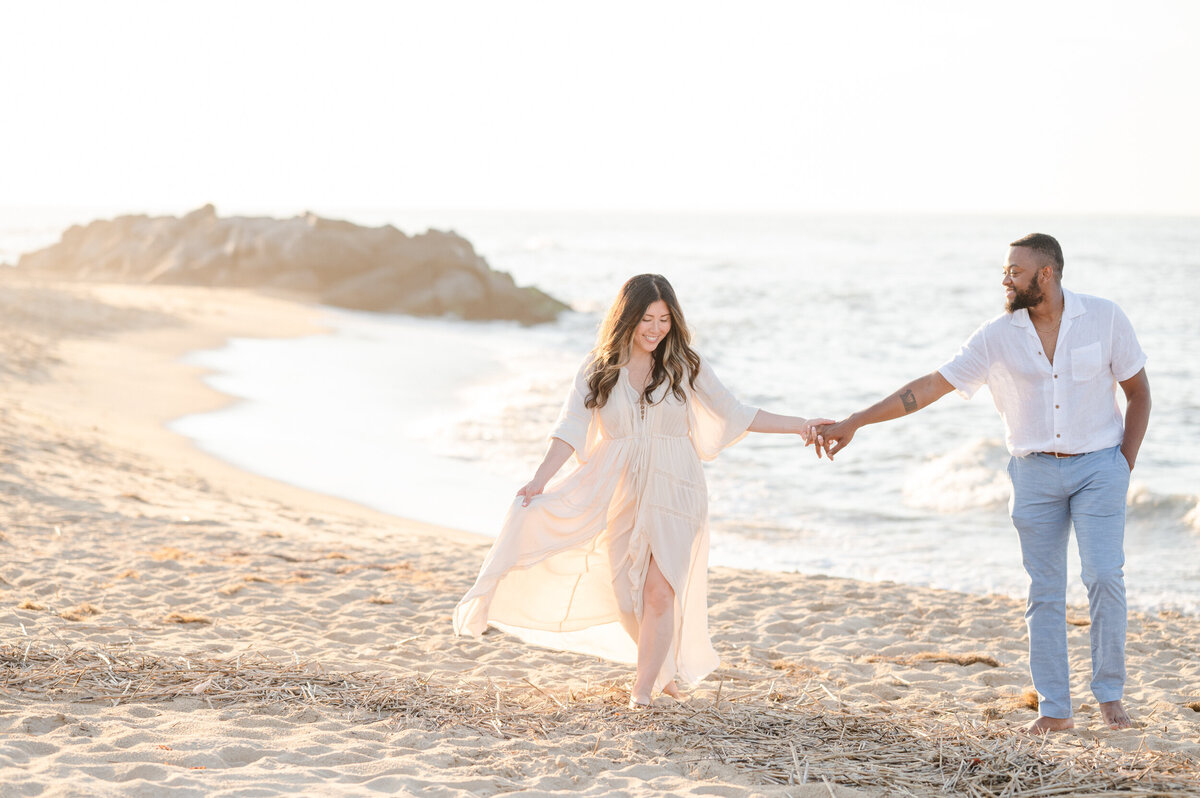
<instances>
[{"instance_id":1,"label":"woman's flowing cream maxi dress with wide sleeves and front slit","mask_svg":"<svg viewBox=\"0 0 1200 798\"><path fill-rule=\"evenodd\" d=\"M719 664L708 636L708 491L701 460L740 440L757 408L701 360L686 402L667 384L644 403L620 370L607 403L584 407L590 359L575 377L553 438L575 467L529 506L512 503L475 586L455 608L457 634L488 625L528 643L637 661L650 556L674 589L674 640L655 689L695 684Z\"/></svg>"}]
</instances>

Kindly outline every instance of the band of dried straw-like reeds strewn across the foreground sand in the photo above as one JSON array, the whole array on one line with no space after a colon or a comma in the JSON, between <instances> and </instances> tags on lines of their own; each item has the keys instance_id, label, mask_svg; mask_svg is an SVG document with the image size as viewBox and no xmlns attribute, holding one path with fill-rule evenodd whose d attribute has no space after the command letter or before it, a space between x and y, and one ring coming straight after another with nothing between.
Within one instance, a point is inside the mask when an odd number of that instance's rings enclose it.
<instances>
[{"instance_id":1,"label":"band of dried straw-like reeds strewn across the foreground sand","mask_svg":"<svg viewBox=\"0 0 1200 798\"><path fill-rule=\"evenodd\" d=\"M283 703L491 737L596 734L623 745L631 761L719 762L757 784L823 781L901 796L1200 794L1200 762L1187 754L1124 751L1070 734L1033 739L946 708L884 714L846 707L816 679L776 679L736 695L722 684L715 701L660 700L632 713L614 683L551 689L451 674L336 673L257 654L151 656L32 643L0 646L0 679L8 691L44 698Z\"/></svg>"}]
</instances>

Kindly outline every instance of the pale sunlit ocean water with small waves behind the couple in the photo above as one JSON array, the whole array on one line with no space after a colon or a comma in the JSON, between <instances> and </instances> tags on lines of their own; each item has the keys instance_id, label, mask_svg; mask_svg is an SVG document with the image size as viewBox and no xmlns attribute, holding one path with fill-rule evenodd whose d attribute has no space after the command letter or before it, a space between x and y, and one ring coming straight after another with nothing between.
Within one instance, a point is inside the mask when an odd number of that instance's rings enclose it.
<instances>
[{"instance_id":1,"label":"pale sunlit ocean water with small waves behind the couple","mask_svg":"<svg viewBox=\"0 0 1200 798\"><path fill-rule=\"evenodd\" d=\"M454 229L574 311L526 329L329 310L328 335L190 355L241 401L174 428L245 468L484 534L533 474L630 275L672 281L696 347L743 401L839 418L952 356L1002 311L1007 242L1051 233L1064 283L1116 300L1150 356L1130 605L1200 612L1200 218L323 214ZM65 215L0 221L0 262L54 240ZM752 434L706 466L712 562L1020 596L1007 461L985 390L866 427L833 463ZM1069 598L1085 600L1078 578Z\"/></svg>"}]
</instances>

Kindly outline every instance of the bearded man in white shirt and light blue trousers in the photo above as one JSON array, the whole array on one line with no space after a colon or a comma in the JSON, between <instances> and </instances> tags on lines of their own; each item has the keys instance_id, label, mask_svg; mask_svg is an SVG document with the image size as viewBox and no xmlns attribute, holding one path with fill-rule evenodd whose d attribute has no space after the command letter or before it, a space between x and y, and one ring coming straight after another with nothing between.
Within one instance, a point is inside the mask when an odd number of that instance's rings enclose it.
<instances>
[{"instance_id":1,"label":"bearded man in white shirt and light blue trousers","mask_svg":"<svg viewBox=\"0 0 1200 798\"><path fill-rule=\"evenodd\" d=\"M1124 690L1124 509L1129 472L1150 420L1146 355L1114 302L1062 287L1062 247L1033 233L1009 245L1006 313L949 362L892 396L818 430L832 460L866 424L916 413L950 390L986 384L1004 420L1013 526L1030 575L1025 619L1038 719L1026 731L1072 728L1067 660L1067 538L1072 523L1091 613L1092 692L1110 728L1133 725ZM1124 422L1116 386L1124 391ZM820 451L818 451L820 454Z\"/></svg>"}]
</instances>

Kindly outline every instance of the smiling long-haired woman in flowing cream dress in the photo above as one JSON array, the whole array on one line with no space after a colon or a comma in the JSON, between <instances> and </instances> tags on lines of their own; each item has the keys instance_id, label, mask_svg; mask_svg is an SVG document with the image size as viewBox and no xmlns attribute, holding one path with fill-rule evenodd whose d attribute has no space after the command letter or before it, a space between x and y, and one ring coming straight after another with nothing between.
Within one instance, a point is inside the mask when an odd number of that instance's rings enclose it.
<instances>
[{"instance_id":1,"label":"smiling long-haired woman in flowing cream dress","mask_svg":"<svg viewBox=\"0 0 1200 798\"><path fill-rule=\"evenodd\" d=\"M805 443L827 419L740 404L692 350L671 283L620 289L520 491L455 632L488 624L548 648L636 662L630 707L678 697L718 665L708 637L708 496L701 460L746 432ZM576 464L551 481L575 455Z\"/></svg>"}]
</instances>

